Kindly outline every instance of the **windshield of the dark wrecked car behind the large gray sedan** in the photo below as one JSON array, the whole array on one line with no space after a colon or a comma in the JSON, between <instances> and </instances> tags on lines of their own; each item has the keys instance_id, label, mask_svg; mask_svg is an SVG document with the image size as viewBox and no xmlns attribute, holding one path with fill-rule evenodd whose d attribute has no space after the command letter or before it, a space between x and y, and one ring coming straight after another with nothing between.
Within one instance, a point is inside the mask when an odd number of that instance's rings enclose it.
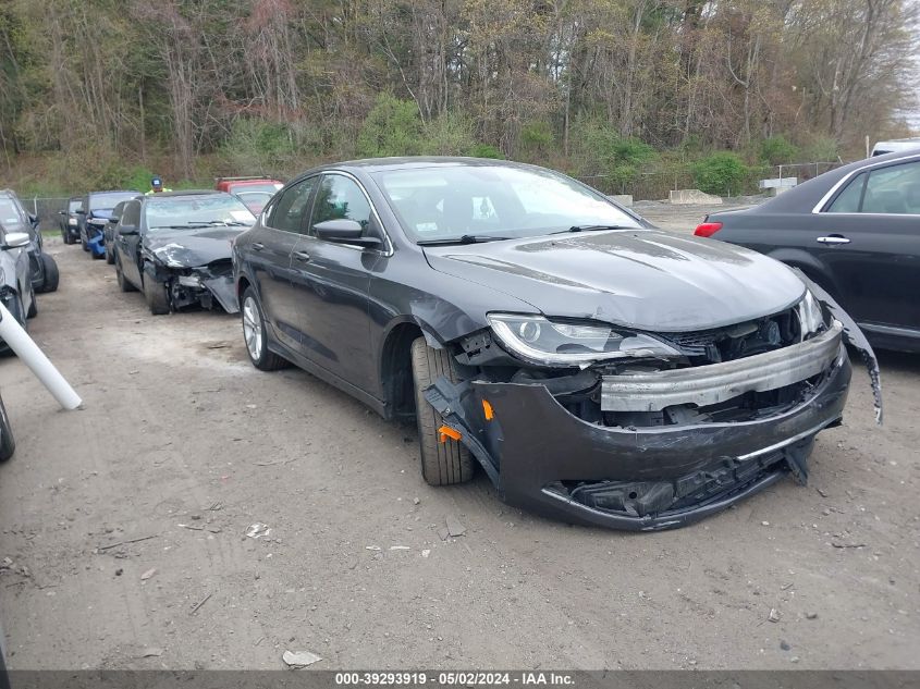
<instances>
[{"instance_id":1,"label":"windshield of the dark wrecked car behind the large gray sedan","mask_svg":"<svg viewBox=\"0 0 920 689\"><path fill-rule=\"evenodd\" d=\"M244 226L256 217L238 198L229 194L214 196L173 196L152 198L144 210L147 229L180 230L209 225Z\"/></svg>"}]
</instances>

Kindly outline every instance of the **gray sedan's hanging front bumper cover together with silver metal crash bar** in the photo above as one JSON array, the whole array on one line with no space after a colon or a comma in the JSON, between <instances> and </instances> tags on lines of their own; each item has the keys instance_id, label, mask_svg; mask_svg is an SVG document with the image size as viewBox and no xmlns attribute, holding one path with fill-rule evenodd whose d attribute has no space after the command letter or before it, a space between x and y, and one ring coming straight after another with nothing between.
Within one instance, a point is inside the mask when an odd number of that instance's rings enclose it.
<instances>
[{"instance_id":1,"label":"gray sedan's hanging front bumper cover together with silver metal crash bar","mask_svg":"<svg viewBox=\"0 0 920 689\"><path fill-rule=\"evenodd\" d=\"M542 384L453 385L441 378L426 398L462 432L506 502L572 522L666 529L724 509L789 472L805 482L814 435L841 421L846 403L851 369L841 340L835 323L775 353L601 380L602 406L628 410L715 404L814 382L795 404L744 421L603 426L571 414Z\"/></svg>"}]
</instances>

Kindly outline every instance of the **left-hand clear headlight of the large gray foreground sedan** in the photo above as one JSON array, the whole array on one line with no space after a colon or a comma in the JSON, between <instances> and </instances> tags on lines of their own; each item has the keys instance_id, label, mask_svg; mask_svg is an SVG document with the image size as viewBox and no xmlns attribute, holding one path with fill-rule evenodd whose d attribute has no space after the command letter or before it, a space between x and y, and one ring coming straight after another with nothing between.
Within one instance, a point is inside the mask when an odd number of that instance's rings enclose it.
<instances>
[{"instance_id":1,"label":"left-hand clear headlight of the large gray foreground sedan","mask_svg":"<svg viewBox=\"0 0 920 689\"><path fill-rule=\"evenodd\" d=\"M512 354L535 364L587 366L627 356L679 356L654 337L618 332L606 323L552 321L542 316L517 313L489 313L487 320Z\"/></svg>"}]
</instances>

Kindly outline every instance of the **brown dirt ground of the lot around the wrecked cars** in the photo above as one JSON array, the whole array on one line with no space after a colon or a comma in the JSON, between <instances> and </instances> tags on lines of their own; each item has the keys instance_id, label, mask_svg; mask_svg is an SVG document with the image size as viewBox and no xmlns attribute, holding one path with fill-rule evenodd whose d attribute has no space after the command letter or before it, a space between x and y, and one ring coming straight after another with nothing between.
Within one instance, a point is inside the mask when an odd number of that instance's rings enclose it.
<instances>
[{"instance_id":1,"label":"brown dirt ground of the lot around the wrecked cars","mask_svg":"<svg viewBox=\"0 0 920 689\"><path fill-rule=\"evenodd\" d=\"M808 488L624 534L508 508L481 472L427 487L414 430L49 245L61 288L30 330L85 409L0 361L14 668L920 667L920 357L883 357L881 429L857 372ZM447 517L466 532L442 541Z\"/></svg>"}]
</instances>

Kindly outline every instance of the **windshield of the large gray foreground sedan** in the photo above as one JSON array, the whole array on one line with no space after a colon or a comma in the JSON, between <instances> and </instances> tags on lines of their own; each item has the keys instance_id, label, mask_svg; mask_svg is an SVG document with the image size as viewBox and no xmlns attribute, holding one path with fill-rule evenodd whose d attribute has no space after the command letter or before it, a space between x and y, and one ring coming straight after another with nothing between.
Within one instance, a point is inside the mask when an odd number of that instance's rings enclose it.
<instances>
[{"instance_id":1,"label":"windshield of the large gray foreground sedan","mask_svg":"<svg viewBox=\"0 0 920 689\"><path fill-rule=\"evenodd\" d=\"M458 165L373 177L415 242L540 236L575 225L641 226L599 192L550 170Z\"/></svg>"}]
</instances>

